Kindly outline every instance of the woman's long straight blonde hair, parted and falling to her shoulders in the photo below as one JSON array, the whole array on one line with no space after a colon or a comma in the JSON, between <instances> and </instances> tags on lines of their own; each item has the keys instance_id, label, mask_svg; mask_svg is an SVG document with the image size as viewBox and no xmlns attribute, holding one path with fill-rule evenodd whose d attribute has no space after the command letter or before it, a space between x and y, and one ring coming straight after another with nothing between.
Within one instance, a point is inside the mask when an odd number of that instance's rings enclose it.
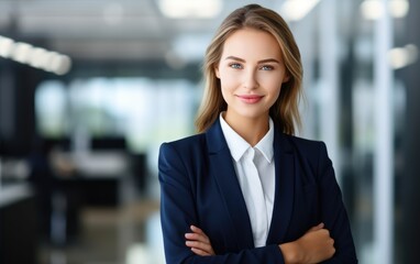
<instances>
[{"instance_id":1,"label":"woman's long straight blonde hair, parted and falling to her shoulders","mask_svg":"<svg viewBox=\"0 0 420 264\"><path fill-rule=\"evenodd\" d=\"M295 134L295 124L299 129L301 127L298 109L302 94L303 75L300 52L286 21L275 11L258 4L248 4L229 14L219 26L206 51L203 63L205 95L196 119L197 131L205 132L218 119L220 112L226 110L228 106L222 97L220 80L215 76L214 68L220 62L226 38L235 31L244 28L272 34L280 46L289 79L283 84L280 95L269 109L269 114L281 132Z\"/></svg>"}]
</instances>

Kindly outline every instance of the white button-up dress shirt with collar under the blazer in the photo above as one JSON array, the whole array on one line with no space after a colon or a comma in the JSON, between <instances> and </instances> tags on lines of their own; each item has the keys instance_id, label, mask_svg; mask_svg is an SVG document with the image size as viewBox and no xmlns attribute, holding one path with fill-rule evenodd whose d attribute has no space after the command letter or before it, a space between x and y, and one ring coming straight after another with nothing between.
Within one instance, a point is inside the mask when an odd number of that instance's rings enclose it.
<instances>
[{"instance_id":1,"label":"white button-up dress shirt with collar under the blazer","mask_svg":"<svg viewBox=\"0 0 420 264\"><path fill-rule=\"evenodd\" d=\"M252 147L224 121L222 114L219 120L250 215L254 245L264 246L272 222L275 193L273 120L269 119L267 134Z\"/></svg>"}]
</instances>

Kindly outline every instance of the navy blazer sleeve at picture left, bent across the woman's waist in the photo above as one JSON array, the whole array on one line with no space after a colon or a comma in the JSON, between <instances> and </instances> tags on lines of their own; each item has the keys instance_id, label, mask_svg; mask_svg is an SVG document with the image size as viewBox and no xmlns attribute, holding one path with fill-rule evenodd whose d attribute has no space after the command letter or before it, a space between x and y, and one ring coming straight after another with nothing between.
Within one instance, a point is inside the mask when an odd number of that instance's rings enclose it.
<instances>
[{"instance_id":1,"label":"navy blazer sleeve at picture left, bent across the woman's waist","mask_svg":"<svg viewBox=\"0 0 420 264\"><path fill-rule=\"evenodd\" d=\"M188 152L183 151L183 155L180 155L172 143L164 143L161 146L158 179L166 263L284 264L281 251L277 244L214 256L198 256L186 246L185 233L190 232L190 224L198 224L194 179L191 179L191 177L197 177L191 168L194 161L195 158Z\"/></svg>"}]
</instances>

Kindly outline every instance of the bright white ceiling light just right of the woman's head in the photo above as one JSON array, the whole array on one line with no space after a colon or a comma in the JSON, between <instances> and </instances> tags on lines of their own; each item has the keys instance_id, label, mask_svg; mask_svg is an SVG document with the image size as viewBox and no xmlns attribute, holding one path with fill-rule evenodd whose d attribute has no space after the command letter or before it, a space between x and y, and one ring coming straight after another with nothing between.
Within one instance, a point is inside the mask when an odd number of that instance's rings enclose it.
<instances>
[{"instance_id":1,"label":"bright white ceiling light just right of the woman's head","mask_svg":"<svg viewBox=\"0 0 420 264\"><path fill-rule=\"evenodd\" d=\"M286 20L297 21L303 19L320 0L287 0L280 8Z\"/></svg>"}]
</instances>

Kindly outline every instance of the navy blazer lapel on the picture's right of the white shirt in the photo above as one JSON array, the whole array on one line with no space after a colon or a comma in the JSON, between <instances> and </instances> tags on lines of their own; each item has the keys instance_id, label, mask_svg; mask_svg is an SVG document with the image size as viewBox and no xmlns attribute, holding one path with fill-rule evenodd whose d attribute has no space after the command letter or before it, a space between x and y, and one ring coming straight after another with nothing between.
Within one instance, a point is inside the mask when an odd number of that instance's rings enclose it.
<instances>
[{"instance_id":1,"label":"navy blazer lapel on the picture's right of the white shirt","mask_svg":"<svg viewBox=\"0 0 420 264\"><path fill-rule=\"evenodd\" d=\"M274 160L276 167L276 193L267 244L286 242L295 196L295 161L292 147L283 133L276 131L274 138Z\"/></svg>"}]
</instances>

